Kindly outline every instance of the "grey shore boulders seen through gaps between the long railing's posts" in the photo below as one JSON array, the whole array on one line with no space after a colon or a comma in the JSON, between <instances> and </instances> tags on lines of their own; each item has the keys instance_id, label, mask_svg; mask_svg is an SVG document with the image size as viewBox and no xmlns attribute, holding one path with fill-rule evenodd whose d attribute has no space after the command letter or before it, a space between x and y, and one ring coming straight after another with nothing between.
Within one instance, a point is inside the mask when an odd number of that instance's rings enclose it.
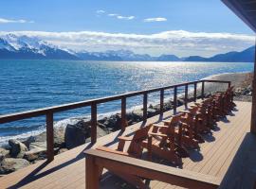
<instances>
[{"instance_id":1,"label":"grey shore boulders seen through gaps between the long railing's posts","mask_svg":"<svg viewBox=\"0 0 256 189\"><path fill-rule=\"evenodd\" d=\"M200 96L198 96L200 97ZM189 97L189 101L193 98ZM182 96L177 98L177 106L184 104ZM174 102L170 99L164 103L164 111L170 111ZM160 112L160 105L148 107L148 117L155 116ZM143 119L143 110L138 109L126 114L128 126L136 124ZM87 118L73 118L74 124L54 128L54 153L55 155L64 151L81 146L90 142L90 121ZM98 120L97 137L104 136L110 132L120 129L120 113L103 117ZM9 144L0 146L0 175L9 174L31 163L37 163L46 159L46 131L30 136L27 139L10 139Z\"/></svg>"}]
</instances>

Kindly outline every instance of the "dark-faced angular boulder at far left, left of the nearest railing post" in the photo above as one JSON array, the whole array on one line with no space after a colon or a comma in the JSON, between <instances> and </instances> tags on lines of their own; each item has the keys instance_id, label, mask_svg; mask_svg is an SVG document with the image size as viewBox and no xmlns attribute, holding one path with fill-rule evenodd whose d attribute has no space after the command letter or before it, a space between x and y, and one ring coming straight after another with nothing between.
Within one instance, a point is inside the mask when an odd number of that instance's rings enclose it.
<instances>
[{"instance_id":1,"label":"dark-faced angular boulder at far left, left of the nearest railing post","mask_svg":"<svg viewBox=\"0 0 256 189\"><path fill-rule=\"evenodd\" d=\"M10 156L12 158L23 158L25 152L28 150L26 145L15 139L9 140L9 146L11 147Z\"/></svg>"}]
</instances>

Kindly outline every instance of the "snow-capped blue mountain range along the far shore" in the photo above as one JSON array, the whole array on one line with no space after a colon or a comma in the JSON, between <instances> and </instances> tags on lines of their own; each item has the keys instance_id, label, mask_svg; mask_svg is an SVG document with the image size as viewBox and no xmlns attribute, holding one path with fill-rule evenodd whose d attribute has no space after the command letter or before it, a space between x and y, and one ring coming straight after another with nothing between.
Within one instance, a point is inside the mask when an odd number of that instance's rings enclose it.
<instances>
[{"instance_id":1,"label":"snow-capped blue mountain range along the far shore","mask_svg":"<svg viewBox=\"0 0 256 189\"><path fill-rule=\"evenodd\" d=\"M175 55L152 57L148 54L136 54L130 50L108 50L105 52L74 52L57 47L35 37L7 34L0 36L0 60L118 60L118 61L223 61L253 62L255 46L244 51L232 51L210 58L190 56L179 58Z\"/></svg>"}]
</instances>

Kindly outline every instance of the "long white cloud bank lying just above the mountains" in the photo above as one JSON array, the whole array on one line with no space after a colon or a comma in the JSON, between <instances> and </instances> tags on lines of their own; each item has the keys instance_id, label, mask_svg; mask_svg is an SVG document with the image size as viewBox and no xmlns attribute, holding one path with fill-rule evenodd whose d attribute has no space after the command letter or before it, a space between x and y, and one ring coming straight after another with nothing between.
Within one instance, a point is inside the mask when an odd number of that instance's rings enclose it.
<instances>
[{"instance_id":1,"label":"long white cloud bank lying just above the mountains","mask_svg":"<svg viewBox=\"0 0 256 189\"><path fill-rule=\"evenodd\" d=\"M177 56L211 56L217 53L240 51L254 44L255 37L246 34L190 32L171 30L155 34L125 34L94 31L45 32L13 31L13 33L37 37L48 43L72 50L105 51L127 49L151 55L175 54Z\"/></svg>"}]
</instances>

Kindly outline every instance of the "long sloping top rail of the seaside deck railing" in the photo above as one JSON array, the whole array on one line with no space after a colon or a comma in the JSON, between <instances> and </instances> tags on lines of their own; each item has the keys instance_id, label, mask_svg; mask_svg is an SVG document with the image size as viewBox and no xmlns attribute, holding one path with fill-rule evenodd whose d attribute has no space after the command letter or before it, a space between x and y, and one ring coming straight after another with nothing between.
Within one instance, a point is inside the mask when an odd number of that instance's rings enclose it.
<instances>
[{"instance_id":1,"label":"long sloping top rail of the seaside deck railing","mask_svg":"<svg viewBox=\"0 0 256 189\"><path fill-rule=\"evenodd\" d=\"M74 110L74 109L78 109L78 108L82 108L82 107L86 107L86 106L91 106L93 103L101 104L101 103L105 103L105 102L109 102L109 101L119 100L123 97L132 97L132 96L145 94L145 93L146 94L154 93L157 91L168 90L168 89L172 89L175 87L186 86L186 85L190 85L190 84L194 84L194 83L198 83L198 82L202 82L202 81L229 83L229 81L221 81L221 80L208 80L208 79L207 80L206 79L195 80L195 81L191 81L191 82L179 83L179 84L175 84L175 85L171 85L171 86L154 88L154 89L145 90L145 91L137 91L137 92L130 92L130 93L126 93L126 94L106 96L106 97L101 97L101 98L97 98L97 99L84 100L84 101L80 101L80 102L69 103L69 104L64 104L64 105L59 105L59 106L52 106L52 107L47 107L47 108L37 109L37 110L32 110L32 111L27 111L27 112L10 113L10 114L5 114L5 115L0 115L0 124L9 123L9 122L18 121L18 120L27 119L27 118L36 117L36 116L41 116L41 115L46 115L49 112L52 113L52 112L64 112L64 111L68 111L68 110Z\"/></svg>"}]
</instances>

